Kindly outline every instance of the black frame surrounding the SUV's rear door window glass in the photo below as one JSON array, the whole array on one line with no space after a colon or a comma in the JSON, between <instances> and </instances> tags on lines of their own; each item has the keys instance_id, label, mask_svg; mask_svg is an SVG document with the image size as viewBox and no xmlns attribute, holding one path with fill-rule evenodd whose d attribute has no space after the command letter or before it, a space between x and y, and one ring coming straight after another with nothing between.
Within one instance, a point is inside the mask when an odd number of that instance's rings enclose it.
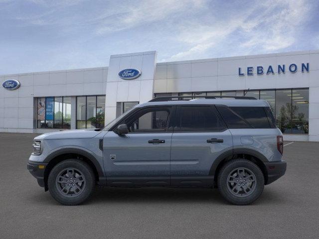
<instances>
[{"instance_id":1,"label":"black frame surrounding the SUV's rear door window glass","mask_svg":"<svg viewBox=\"0 0 319 239\"><path fill-rule=\"evenodd\" d=\"M182 107L210 107L213 114L217 116L217 118L222 121L225 125L223 129L220 130L181 130L180 125L178 124L178 120L181 119L181 108ZM225 122L225 120L221 117L218 110L216 109L215 105L209 105L209 104L200 104L200 105L177 105L176 106L176 113L174 117L174 126L173 126L173 132L174 133L204 133L204 132L223 132L228 129L228 126Z\"/></svg>"}]
</instances>

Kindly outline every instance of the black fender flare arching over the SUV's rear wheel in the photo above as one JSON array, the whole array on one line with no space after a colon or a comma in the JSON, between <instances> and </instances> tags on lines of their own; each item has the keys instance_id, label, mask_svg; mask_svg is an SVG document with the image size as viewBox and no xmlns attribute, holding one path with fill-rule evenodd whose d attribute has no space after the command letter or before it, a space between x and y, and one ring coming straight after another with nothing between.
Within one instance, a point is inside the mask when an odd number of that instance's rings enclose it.
<instances>
[{"instance_id":1,"label":"black fender flare arching over the SUV's rear wheel","mask_svg":"<svg viewBox=\"0 0 319 239\"><path fill-rule=\"evenodd\" d=\"M252 155L252 156L258 158L262 162L269 162L268 159L262 153L258 152L257 150L250 149L250 148L230 149L230 150L227 150L227 151L223 152L222 154L220 154L214 160L214 162L212 163L212 165L210 167L209 175L215 175L216 169L217 169L218 165L221 163L221 161L223 161L227 157L232 157L235 154L249 154L249 155Z\"/></svg>"}]
</instances>

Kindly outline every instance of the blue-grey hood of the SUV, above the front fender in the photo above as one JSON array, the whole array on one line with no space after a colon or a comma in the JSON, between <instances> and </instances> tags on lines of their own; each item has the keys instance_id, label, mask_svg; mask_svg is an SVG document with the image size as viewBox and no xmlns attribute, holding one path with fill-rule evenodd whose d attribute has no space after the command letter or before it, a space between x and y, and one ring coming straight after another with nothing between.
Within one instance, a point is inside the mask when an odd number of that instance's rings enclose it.
<instances>
[{"instance_id":1,"label":"blue-grey hood of the SUV, above the front fender","mask_svg":"<svg viewBox=\"0 0 319 239\"><path fill-rule=\"evenodd\" d=\"M75 129L75 130L61 130L50 133L41 134L34 139L72 139L72 138L93 138L98 135L101 129Z\"/></svg>"}]
</instances>

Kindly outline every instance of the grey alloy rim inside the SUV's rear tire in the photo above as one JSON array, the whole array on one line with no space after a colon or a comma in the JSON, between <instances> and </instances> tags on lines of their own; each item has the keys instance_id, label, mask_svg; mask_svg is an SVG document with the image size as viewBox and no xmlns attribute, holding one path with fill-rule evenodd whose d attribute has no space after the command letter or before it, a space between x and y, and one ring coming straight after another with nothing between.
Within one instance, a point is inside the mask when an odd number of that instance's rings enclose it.
<instances>
[{"instance_id":1,"label":"grey alloy rim inside the SUV's rear tire","mask_svg":"<svg viewBox=\"0 0 319 239\"><path fill-rule=\"evenodd\" d=\"M248 197L256 189L256 184L256 176L248 168L235 168L227 177L227 188L236 197Z\"/></svg>"}]
</instances>

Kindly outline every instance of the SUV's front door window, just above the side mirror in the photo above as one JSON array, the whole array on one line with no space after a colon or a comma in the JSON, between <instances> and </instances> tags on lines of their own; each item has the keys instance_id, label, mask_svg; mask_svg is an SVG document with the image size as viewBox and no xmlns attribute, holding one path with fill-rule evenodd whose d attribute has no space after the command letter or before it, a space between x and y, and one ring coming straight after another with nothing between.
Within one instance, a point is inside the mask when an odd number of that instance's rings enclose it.
<instances>
[{"instance_id":1,"label":"SUV's front door window, just above the side mirror","mask_svg":"<svg viewBox=\"0 0 319 239\"><path fill-rule=\"evenodd\" d=\"M166 131L169 119L169 108L141 110L134 116L126 119L129 132L156 132Z\"/></svg>"}]
</instances>

